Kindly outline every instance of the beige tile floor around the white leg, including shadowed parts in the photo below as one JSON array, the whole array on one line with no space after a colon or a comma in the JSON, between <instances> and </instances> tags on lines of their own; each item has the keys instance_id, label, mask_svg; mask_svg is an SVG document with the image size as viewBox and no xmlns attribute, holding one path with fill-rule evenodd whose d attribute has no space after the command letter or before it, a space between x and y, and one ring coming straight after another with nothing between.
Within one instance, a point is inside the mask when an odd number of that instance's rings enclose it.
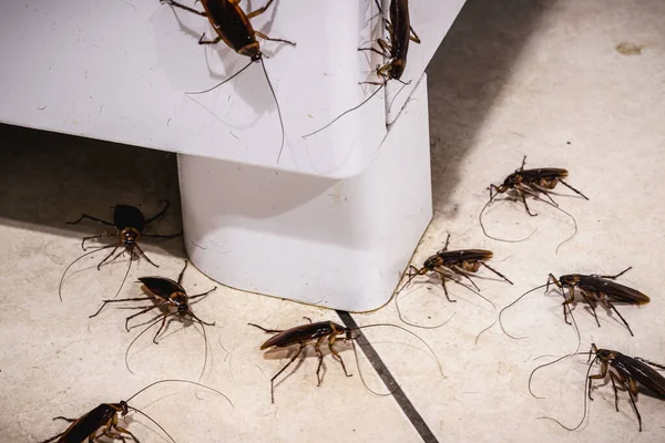
<instances>
[{"instance_id":1,"label":"beige tile floor around the white leg, including shadowed parts","mask_svg":"<svg viewBox=\"0 0 665 443\"><path fill-rule=\"evenodd\" d=\"M665 361L665 303L661 297L661 258L665 251L665 209L659 186L665 171L665 2L643 1L469 1L429 68L434 219L415 256L419 264L438 250L448 233L452 248L488 248L491 261L514 286L488 272L478 284L497 307L541 285L549 272L615 274L633 270L621 281L652 297L642 308L620 308L631 323L630 337L615 316L598 311L602 328L582 305L575 318L585 350L593 341L627 354ZM643 45L626 55L622 42ZM126 310L108 308L88 319L102 298L112 297L126 261L94 269L81 260L63 285L64 267L80 253L80 238L99 233L95 224L65 225L81 212L109 217L109 206L123 202L156 212L161 198L172 210L154 229L180 228L175 157L14 127L0 128L0 414L1 440L38 442L62 430L54 415L76 416L101 402L119 401L162 378L196 380L203 364L203 338L194 327L174 322L158 346L145 337L124 354L135 333L126 333ZM478 214L485 186L528 166L564 167L570 183L590 202L559 196L571 220L554 208L533 203L540 215L528 217L519 204L497 203L483 236ZM559 190L559 189L557 189ZM562 190L562 194L570 194ZM183 265L178 239L146 241L160 265L133 265L121 297L141 295L135 278L158 274L175 278ZM99 259L99 258L98 258ZM424 281L423 281L424 280ZM194 268L184 286L196 293L215 284ZM440 359L443 379L427 349L402 331L368 329L366 334L432 437L423 439L392 396L368 392L359 379L352 351L341 346L352 378L326 356L325 380L316 387L316 358L309 352L296 372L276 388L269 378L284 363L284 352L262 354L265 334L247 322L287 328L332 319L332 311L218 287L195 305L207 328L209 356L203 382L232 401L202 389L163 384L135 399L177 442L350 442L427 441L644 441L665 440L665 403L641 395L644 432L625 392L614 410L612 385L600 385L587 419L576 432L569 425L583 413L584 357L550 367L534 379L530 371L541 354L575 348L574 329L562 319L561 299L535 291L507 311L507 328L524 340L511 340L498 327L474 343L491 324L491 306L459 286L450 286L457 303L446 301L436 281L415 281L400 297L413 322L444 327L413 329ZM371 315L354 315L359 324L399 323L395 302ZM135 332L136 330L134 330ZM386 392L364 356L368 385ZM141 416L129 419L142 442L165 441Z\"/></svg>"}]
</instances>

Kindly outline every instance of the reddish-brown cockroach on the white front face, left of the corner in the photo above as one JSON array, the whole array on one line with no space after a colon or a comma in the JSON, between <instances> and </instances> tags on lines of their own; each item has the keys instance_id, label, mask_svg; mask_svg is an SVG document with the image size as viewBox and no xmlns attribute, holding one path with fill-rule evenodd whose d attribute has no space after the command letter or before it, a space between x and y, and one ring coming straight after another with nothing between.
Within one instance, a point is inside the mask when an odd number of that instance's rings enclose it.
<instances>
[{"instance_id":1,"label":"reddish-brown cockroach on the white front face, left of the corner","mask_svg":"<svg viewBox=\"0 0 665 443\"><path fill-rule=\"evenodd\" d=\"M197 16L202 16L208 19L211 25L217 33L217 37L213 40L204 40L205 33L201 35L198 39L198 44L217 44L221 41L224 41L227 47L233 49L241 55L245 55L249 58L249 63L247 63L243 69L241 69L235 74L231 75L228 79L224 80L221 83L217 83L215 86L209 87L205 91L200 92L190 92L187 94L205 94L211 92L226 82L235 79L237 75L243 73L252 63L260 62L264 74L266 76L266 81L268 86L270 87L270 92L273 93L273 99L275 99L275 105L277 107L277 114L279 115L279 126L282 127L282 144L279 146L279 154L277 155L277 163L279 163L279 158L282 157L282 151L284 150L284 120L282 119L282 110L279 109L279 102L277 101L277 94L275 93L275 89L273 87L273 83L268 76L268 71L266 70L266 65L263 61L264 54L260 51L260 45L256 40L256 37L260 37L264 40L275 41L280 43L290 44L295 47L296 43L283 40L283 39L273 39L259 31L256 31L250 23L250 19L260 16L264 13L270 4L273 4L274 0L268 0L268 2L263 7L253 12L245 13L241 8L241 0L201 0L201 4L203 6L203 11L197 11L193 8L186 7L182 3L178 3L174 0L160 0L162 3L167 3L170 6L184 9L185 11L195 13Z\"/></svg>"}]
</instances>

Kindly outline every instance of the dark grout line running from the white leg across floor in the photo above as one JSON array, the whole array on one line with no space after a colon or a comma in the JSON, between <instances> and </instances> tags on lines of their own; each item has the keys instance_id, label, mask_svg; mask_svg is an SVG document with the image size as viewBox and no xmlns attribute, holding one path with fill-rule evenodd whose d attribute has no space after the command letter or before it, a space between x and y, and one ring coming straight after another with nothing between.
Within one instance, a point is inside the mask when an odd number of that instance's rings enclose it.
<instances>
[{"instance_id":1,"label":"dark grout line running from the white leg across floor","mask_svg":"<svg viewBox=\"0 0 665 443\"><path fill-rule=\"evenodd\" d=\"M337 310L337 315L347 328L358 328L358 323L356 323L356 320L354 320L350 313ZM401 387L397 384L397 380L395 380L395 377L392 377L390 370L386 367L377 351L367 340L367 337L365 337L361 330L358 329L357 331L359 332L358 337L356 338L358 346L360 347L360 349L362 349L365 357L367 357L367 359L369 360L374 369L377 371L388 390L392 392L392 396L395 398L395 400L397 400L397 403L399 404L403 413L407 415L407 419L409 419L413 427L416 427L416 431L418 431L418 433L422 437L422 441L426 443L439 443L439 441L437 440L432 431L429 429L424 420L422 420L422 416L420 416L420 414L413 406L413 403L411 403L405 391L402 391Z\"/></svg>"}]
</instances>

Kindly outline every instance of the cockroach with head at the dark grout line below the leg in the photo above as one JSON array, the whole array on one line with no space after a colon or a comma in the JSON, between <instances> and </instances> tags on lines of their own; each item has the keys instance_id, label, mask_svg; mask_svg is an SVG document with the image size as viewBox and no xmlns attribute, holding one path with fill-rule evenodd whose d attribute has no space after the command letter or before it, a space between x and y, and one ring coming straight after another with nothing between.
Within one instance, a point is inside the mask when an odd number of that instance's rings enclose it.
<instances>
[{"instance_id":1,"label":"cockroach with head at the dark grout line below the leg","mask_svg":"<svg viewBox=\"0 0 665 443\"><path fill-rule=\"evenodd\" d=\"M309 320L309 319L307 319L307 320ZM313 323L311 320L309 320L309 321L310 322L308 324L300 324L300 326L296 326L294 328L286 329L286 330L266 329L259 324L247 323L249 326L253 326L255 328L263 330L264 332L275 333L274 337L269 338L260 346L262 351L269 349L269 348L289 348L293 346L298 346L298 351L296 352L296 354L289 360L288 363L286 363L270 379L270 401L273 403L275 403L275 379L277 379L277 377L279 377L298 358L298 356L300 356L300 353L307 347L307 344L311 343L313 341L314 341L314 350L318 358L318 367L316 369L316 378L318 381L317 387L321 385L320 370L321 370L321 365L324 364L324 354L321 352L320 347L321 347L324 340L326 340L326 339L328 340L328 349L332 353L332 357L335 359L337 359L337 361L339 361L339 363L341 364L341 369L344 370L345 375L351 377L352 374L349 374L347 372L347 369L346 369L346 365L344 364L344 360L341 359L341 356L339 354L337 349L335 349L335 342L338 339L341 339L345 342L350 341L351 344L354 344L354 340L355 340L354 331L356 329L359 330L359 329L365 329L365 328L387 326L387 327L398 328L398 329L401 329L401 330L408 332L409 334L411 334L411 336L416 337L418 340L420 340L420 342L422 342L429 349L429 351L432 353L432 356L434 356L434 359L437 360L437 364L439 365L439 371L441 372L441 374L443 374L443 371L441 370L441 363L437 359L437 356L434 354L434 351L432 351L430 346L424 340L422 340L420 337L415 334L413 332L409 331L408 329L401 328L397 324L375 323L375 324L361 326L358 328L346 328L334 321L317 321L316 323ZM356 348L354 344L354 351L355 351L355 349ZM360 373L360 378L362 379L361 373ZM367 384L366 384L366 388L369 389L367 387ZM371 392L374 392L374 391L371 391Z\"/></svg>"}]
</instances>

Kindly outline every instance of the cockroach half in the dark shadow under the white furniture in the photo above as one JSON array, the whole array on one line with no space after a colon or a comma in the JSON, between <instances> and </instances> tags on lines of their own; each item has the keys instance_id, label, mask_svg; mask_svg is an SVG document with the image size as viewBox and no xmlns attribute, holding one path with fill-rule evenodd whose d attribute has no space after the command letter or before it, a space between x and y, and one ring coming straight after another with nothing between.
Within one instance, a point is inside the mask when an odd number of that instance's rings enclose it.
<instances>
[{"instance_id":1,"label":"cockroach half in the dark shadow under the white furniture","mask_svg":"<svg viewBox=\"0 0 665 443\"><path fill-rule=\"evenodd\" d=\"M113 207L113 222L106 222L106 220L102 220L101 218L98 217L93 217L91 215L88 214L82 214L81 217L79 217L74 222L68 222L69 225L75 225L78 223L80 223L83 219L90 219L93 222L99 222L103 225L106 226L113 226L115 228L115 233L102 233L99 235L94 235L94 236L89 236L89 237L83 237L83 240L81 241L81 247L83 248L83 250L85 249L85 241L86 240L91 240L94 238L104 238L104 237L111 237L114 235L117 235L120 237L120 241L113 245L108 245L108 246L102 246L101 248L96 248L90 253L85 253L83 254L81 257L76 258L74 261L72 261L65 269L64 272L62 272L62 277L60 278L60 285L58 286L58 296L60 297L60 301L62 301L62 282L64 281L64 277L66 276L66 271L80 259L82 259L85 256L89 256L91 254L98 253L102 249L109 249L109 248L113 248L113 250L102 260L100 261L100 264L98 265L98 270L100 270L100 268L102 267L102 265L104 265L114 254L119 248L122 248L122 250L114 256L111 261L114 261L116 258L119 258L121 255L123 255L124 253L129 253L130 254L130 264L127 266L127 271L125 272L125 276L120 285L120 288L117 288L117 291L115 292L115 296L117 297L117 293L120 293L120 290L122 289L127 276L130 275L130 269L132 268L132 260L134 257L140 258L143 257L147 260L147 262L150 262L151 265L153 265L154 267L157 267L157 265L155 265L150 258L147 258L147 256L145 255L145 253L143 251L143 249L141 249L141 246L139 246L139 240L142 237L149 237L149 238L174 238L174 237L178 237L181 236L183 233L176 233L176 234L171 234L171 235L157 235L157 234L144 234L143 229L145 229L145 227L147 225L150 225L152 222L156 220L157 218L164 216L164 214L166 213L166 209L168 209L168 203L166 203L166 205L164 206L164 208L162 210L160 210L158 214L155 214L154 216L150 217L150 218L145 218L143 216L143 213L141 212L141 209L139 209L135 206L130 206L130 205L115 205ZM139 253L136 253L139 251ZM111 262L109 261L109 262Z\"/></svg>"}]
</instances>

